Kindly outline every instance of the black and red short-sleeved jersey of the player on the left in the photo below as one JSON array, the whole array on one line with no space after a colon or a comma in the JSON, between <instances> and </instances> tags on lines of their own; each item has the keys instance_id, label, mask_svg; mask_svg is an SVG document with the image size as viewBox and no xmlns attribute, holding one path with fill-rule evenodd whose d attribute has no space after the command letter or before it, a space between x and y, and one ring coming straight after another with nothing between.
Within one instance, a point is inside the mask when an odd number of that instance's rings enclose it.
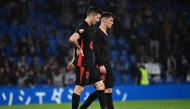
<instances>
[{"instance_id":1,"label":"black and red short-sleeved jersey of the player on the left","mask_svg":"<svg viewBox=\"0 0 190 109\"><path fill-rule=\"evenodd\" d=\"M75 31L79 34L78 44L83 49L84 57L81 55L76 56L75 64L77 66L93 66L93 44L92 44L92 32L90 26L86 21L83 21Z\"/></svg>"}]
</instances>

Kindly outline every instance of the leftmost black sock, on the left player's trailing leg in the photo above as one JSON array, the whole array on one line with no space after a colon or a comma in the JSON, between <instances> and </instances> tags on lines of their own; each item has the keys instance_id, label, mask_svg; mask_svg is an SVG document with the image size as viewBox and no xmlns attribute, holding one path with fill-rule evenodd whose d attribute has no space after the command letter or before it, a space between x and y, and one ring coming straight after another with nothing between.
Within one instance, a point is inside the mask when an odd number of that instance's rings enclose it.
<instances>
[{"instance_id":1,"label":"leftmost black sock, on the left player's trailing leg","mask_svg":"<svg viewBox=\"0 0 190 109\"><path fill-rule=\"evenodd\" d=\"M73 93L72 95L72 109L78 109L80 101L80 95Z\"/></svg>"}]
</instances>

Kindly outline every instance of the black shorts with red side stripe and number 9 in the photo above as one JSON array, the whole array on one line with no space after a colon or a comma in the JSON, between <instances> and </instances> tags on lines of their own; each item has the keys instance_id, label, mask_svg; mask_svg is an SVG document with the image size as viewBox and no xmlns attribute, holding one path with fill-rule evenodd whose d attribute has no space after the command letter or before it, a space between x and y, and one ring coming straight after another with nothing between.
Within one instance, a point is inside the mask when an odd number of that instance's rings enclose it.
<instances>
[{"instance_id":1,"label":"black shorts with red side stripe and number 9","mask_svg":"<svg viewBox=\"0 0 190 109\"><path fill-rule=\"evenodd\" d=\"M85 86L101 80L100 73L95 67L77 66L75 72L76 85Z\"/></svg>"}]
</instances>

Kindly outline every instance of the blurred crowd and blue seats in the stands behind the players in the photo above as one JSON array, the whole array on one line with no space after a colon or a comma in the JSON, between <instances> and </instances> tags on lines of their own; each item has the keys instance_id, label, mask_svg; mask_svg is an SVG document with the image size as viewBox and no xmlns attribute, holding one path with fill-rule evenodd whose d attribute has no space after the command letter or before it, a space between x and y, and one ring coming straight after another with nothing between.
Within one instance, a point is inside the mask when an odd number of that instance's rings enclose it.
<instances>
[{"instance_id":1,"label":"blurred crowd and blue seats in the stands behind the players","mask_svg":"<svg viewBox=\"0 0 190 109\"><path fill-rule=\"evenodd\" d=\"M135 80L137 62L160 64L156 83L190 81L188 1L1 0L0 85L74 84L75 72L66 69L73 52L68 38L90 6L116 16L109 30L115 82Z\"/></svg>"}]
</instances>

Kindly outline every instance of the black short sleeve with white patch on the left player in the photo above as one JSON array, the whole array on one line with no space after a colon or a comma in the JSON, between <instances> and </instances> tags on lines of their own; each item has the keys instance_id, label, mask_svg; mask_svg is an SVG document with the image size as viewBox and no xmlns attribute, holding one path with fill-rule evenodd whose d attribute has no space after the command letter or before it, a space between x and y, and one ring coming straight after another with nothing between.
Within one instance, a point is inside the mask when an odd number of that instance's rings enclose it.
<instances>
[{"instance_id":1,"label":"black short sleeve with white patch on the left player","mask_svg":"<svg viewBox=\"0 0 190 109\"><path fill-rule=\"evenodd\" d=\"M88 28L84 24L81 24L75 32L79 34L80 38L83 38L88 33Z\"/></svg>"}]
</instances>

